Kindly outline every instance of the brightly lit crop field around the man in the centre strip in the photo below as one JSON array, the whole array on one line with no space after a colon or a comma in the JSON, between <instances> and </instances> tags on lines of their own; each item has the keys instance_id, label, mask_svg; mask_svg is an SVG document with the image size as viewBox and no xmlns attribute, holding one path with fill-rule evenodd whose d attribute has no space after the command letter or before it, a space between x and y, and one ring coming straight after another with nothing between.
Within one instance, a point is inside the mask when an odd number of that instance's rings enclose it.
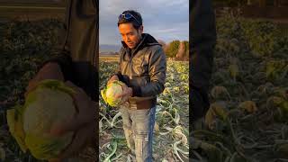
<instances>
[{"instance_id":1,"label":"brightly lit crop field around the man in the centre strip","mask_svg":"<svg viewBox=\"0 0 288 162\"><path fill-rule=\"evenodd\" d=\"M116 66L117 61L109 57L100 59L100 89L103 89ZM188 161L188 72L188 62L167 61L166 88L157 96L153 142L155 161ZM101 161L134 161L135 157L128 153L121 112L107 106L99 97Z\"/></svg>"}]
</instances>

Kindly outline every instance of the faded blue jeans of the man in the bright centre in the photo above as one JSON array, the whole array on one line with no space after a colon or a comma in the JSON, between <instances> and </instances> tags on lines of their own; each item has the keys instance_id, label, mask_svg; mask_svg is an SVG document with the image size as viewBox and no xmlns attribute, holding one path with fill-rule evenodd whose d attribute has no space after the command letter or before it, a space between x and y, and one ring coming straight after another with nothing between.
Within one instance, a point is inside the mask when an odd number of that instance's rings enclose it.
<instances>
[{"instance_id":1,"label":"faded blue jeans of the man in the bright centre","mask_svg":"<svg viewBox=\"0 0 288 162\"><path fill-rule=\"evenodd\" d=\"M147 110L121 106L120 112L127 145L135 152L137 162L151 162L156 106Z\"/></svg>"}]
</instances>

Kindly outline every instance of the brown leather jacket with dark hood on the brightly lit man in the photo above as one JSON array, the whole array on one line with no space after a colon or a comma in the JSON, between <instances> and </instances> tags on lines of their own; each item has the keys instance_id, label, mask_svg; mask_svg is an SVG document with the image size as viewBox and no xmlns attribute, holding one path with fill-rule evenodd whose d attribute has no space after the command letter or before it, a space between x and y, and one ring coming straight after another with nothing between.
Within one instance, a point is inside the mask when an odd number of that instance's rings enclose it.
<instances>
[{"instance_id":1,"label":"brown leather jacket with dark hood on the brightly lit man","mask_svg":"<svg viewBox=\"0 0 288 162\"><path fill-rule=\"evenodd\" d=\"M147 33L142 34L142 40L132 51L124 42L122 45L117 75L133 89L130 106L145 100L153 100L155 104L166 80L166 55L161 45Z\"/></svg>"}]
</instances>

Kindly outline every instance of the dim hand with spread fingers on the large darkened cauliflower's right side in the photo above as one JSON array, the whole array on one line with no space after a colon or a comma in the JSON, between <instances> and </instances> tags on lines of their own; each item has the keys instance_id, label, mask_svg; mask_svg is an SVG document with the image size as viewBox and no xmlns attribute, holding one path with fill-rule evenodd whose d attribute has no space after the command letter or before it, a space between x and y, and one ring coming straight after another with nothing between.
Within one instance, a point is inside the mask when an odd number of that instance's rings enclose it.
<instances>
[{"instance_id":1,"label":"dim hand with spread fingers on the large darkened cauliflower's right side","mask_svg":"<svg viewBox=\"0 0 288 162\"><path fill-rule=\"evenodd\" d=\"M61 161L64 158L75 155L81 148L85 147L87 140L92 139L96 135L94 130L97 126L96 120L94 119L96 103L91 101L81 88L73 85L69 81L66 82L66 85L76 91L76 94L73 94L73 99L76 103L78 113L72 119L67 119L66 122L52 126L50 134L60 136L67 131L75 131L76 136L72 143L58 155L57 159L51 159L50 161Z\"/></svg>"}]
</instances>

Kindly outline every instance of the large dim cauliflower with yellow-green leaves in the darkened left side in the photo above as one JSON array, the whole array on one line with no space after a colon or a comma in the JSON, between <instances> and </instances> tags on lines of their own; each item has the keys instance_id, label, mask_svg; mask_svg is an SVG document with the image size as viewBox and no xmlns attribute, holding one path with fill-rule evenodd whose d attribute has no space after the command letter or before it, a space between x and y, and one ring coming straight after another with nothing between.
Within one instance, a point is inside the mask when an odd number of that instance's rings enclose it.
<instances>
[{"instance_id":1,"label":"large dim cauliflower with yellow-green leaves in the darkened left side","mask_svg":"<svg viewBox=\"0 0 288 162\"><path fill-rule=\"evenodd\" d=\"M57 157L72 141L74 132L60 137L49 134L51 126L76 114L74 90L58 80L45 80L26 97L24 106L7 111L9 130L24 152L39 159Z\"/></svg>"}]
</instances>

